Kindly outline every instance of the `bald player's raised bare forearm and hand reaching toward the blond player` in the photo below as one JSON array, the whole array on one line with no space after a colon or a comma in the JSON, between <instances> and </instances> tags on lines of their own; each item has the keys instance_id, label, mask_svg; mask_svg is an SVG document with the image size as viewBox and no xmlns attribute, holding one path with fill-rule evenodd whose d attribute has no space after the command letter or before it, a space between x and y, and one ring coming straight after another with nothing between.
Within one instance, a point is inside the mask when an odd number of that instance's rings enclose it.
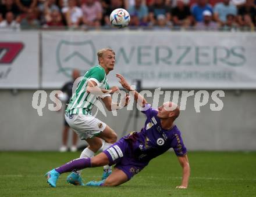
<instances>
[{"instance_id":1,"label":"bald player's raised bare forearm and hand reaching toward the blond player","mask_svg":"<svg viewBox=\"0 0 256 197\"><path fill-rule=\"evenodd\" d=\"M126 90L134 94L134 99L136 100L136 102L139 105L141 105L141 107L145 107L145 104L148 103L147 100L145 100L145 98L141 96L136 90L132 89L130 84L126 81L126 79L122 75L116 74L116 77L120 79L119 83L123 86L123 88L125 88Z\"/></svg>"}]
</instances>

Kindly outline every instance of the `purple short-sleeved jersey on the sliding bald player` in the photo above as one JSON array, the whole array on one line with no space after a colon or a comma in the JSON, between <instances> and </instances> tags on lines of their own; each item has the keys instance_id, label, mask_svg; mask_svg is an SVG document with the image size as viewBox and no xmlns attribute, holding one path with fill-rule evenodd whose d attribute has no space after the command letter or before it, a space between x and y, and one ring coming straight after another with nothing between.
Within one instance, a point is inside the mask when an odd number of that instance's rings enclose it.
<instances>
[{"instance_id":1,"label":"purple short-sleeved jersey on the sliding bald player","mask_svg":"<svg viewBox=\"0 0 256 197\"><path fill-rule=\"evenodd\" d=\"M149 162L170 148L174 149L177 156L185 155L187 150L177 126L170 130L163 129L157 116L158 111L152 109L150 104L146 104L145 109L147 110L142 112L147 116L147 120L141 132L133 132L124 137L130 144L130 156Z\"/></svg>"}]
</instances>

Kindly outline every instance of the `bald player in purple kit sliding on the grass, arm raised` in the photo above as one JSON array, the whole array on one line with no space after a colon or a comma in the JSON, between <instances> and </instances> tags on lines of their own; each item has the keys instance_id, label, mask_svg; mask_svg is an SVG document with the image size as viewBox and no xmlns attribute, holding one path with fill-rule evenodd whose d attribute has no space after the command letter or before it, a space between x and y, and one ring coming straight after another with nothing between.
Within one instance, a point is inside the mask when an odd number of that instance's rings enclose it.
<instances>
[{"instance_id":1,"label":"bald player in purple kit sliding on the grass, arm raised","mask_svg":"<svg viewBox=\"0 0 256 197\"><path fill-rule=\"evenodd\" d=\"M112 174L102 181L90 181L91 186L117 186L129 181L131 177L143 170L151 159L173 148L183 168L182 184L176 188L185 189L189 184L190 166L187 150L181 133L173 124L179 116L179 107L172 102L163 103L154 110L136 90L131 90L129 83L122 75L116 75L121 85L134 93L134 99L143 107L147 116L145 126L140 132L132 132L93 158L74 159L61 167L47 173L47 182L56 187L56 181L62 173L72 172L87 167L115 165Z\"/></svg>"}]
</instances>

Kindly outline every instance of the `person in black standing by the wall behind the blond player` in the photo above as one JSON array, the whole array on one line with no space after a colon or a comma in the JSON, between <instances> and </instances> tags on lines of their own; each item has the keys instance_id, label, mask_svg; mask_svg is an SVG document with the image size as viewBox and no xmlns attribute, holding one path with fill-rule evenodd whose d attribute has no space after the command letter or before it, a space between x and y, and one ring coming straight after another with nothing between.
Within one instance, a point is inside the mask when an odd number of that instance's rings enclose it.
<instances>
[{"instance_id":1,"label":"person in black standing by the wall behind the blond player","mask_svg":"<svg viewBox=\"0 0 256 197\"><path fill-rule=\"evenodd\" d=\"M65 101L66 104L69 103L70 98L72 97L72 88L74 81L80 77L80 72L78 70L73 70L72 72L72 78L73 81L65 83L65 85L62 87L61 91L63 94L66 95L66 99L61 99L61 101ZM67 108L67 105L65 104L65 110ZM64 111L65 111L64 110ZM64 119L64 128L62 133L62 146L59 149L60 152L66 152L67 151L67 138L68 138L68 132L69 132L69 125L67 124L66 120ZM73 131L73 130L72 130ZM77 139L78 136L73 131L73 141L72 141L72 147L70 148L70 151L76 152L77 151Z\"/></svg>"}]
</instances>

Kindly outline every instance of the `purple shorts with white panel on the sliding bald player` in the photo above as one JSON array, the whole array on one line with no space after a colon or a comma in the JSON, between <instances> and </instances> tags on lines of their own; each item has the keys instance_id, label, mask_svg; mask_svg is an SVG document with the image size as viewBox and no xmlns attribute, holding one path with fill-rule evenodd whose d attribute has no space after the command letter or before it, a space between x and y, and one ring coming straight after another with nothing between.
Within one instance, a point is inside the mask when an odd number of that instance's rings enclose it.
<instances>
[{"instance_id":1,"label":"purple shorts with white panel on the sliding bald player","mask_svg":"<svg viewBox=\"0 0 256 197\"><path fill-rule=\"evenodd\" d=\"M122 170L129 180L148 165L148 162L140 162L133 158L130 145L124 138L120 138L103 152L108 156L109 165L116 164L115 167Z\"/></svg>"}]
</instances>

